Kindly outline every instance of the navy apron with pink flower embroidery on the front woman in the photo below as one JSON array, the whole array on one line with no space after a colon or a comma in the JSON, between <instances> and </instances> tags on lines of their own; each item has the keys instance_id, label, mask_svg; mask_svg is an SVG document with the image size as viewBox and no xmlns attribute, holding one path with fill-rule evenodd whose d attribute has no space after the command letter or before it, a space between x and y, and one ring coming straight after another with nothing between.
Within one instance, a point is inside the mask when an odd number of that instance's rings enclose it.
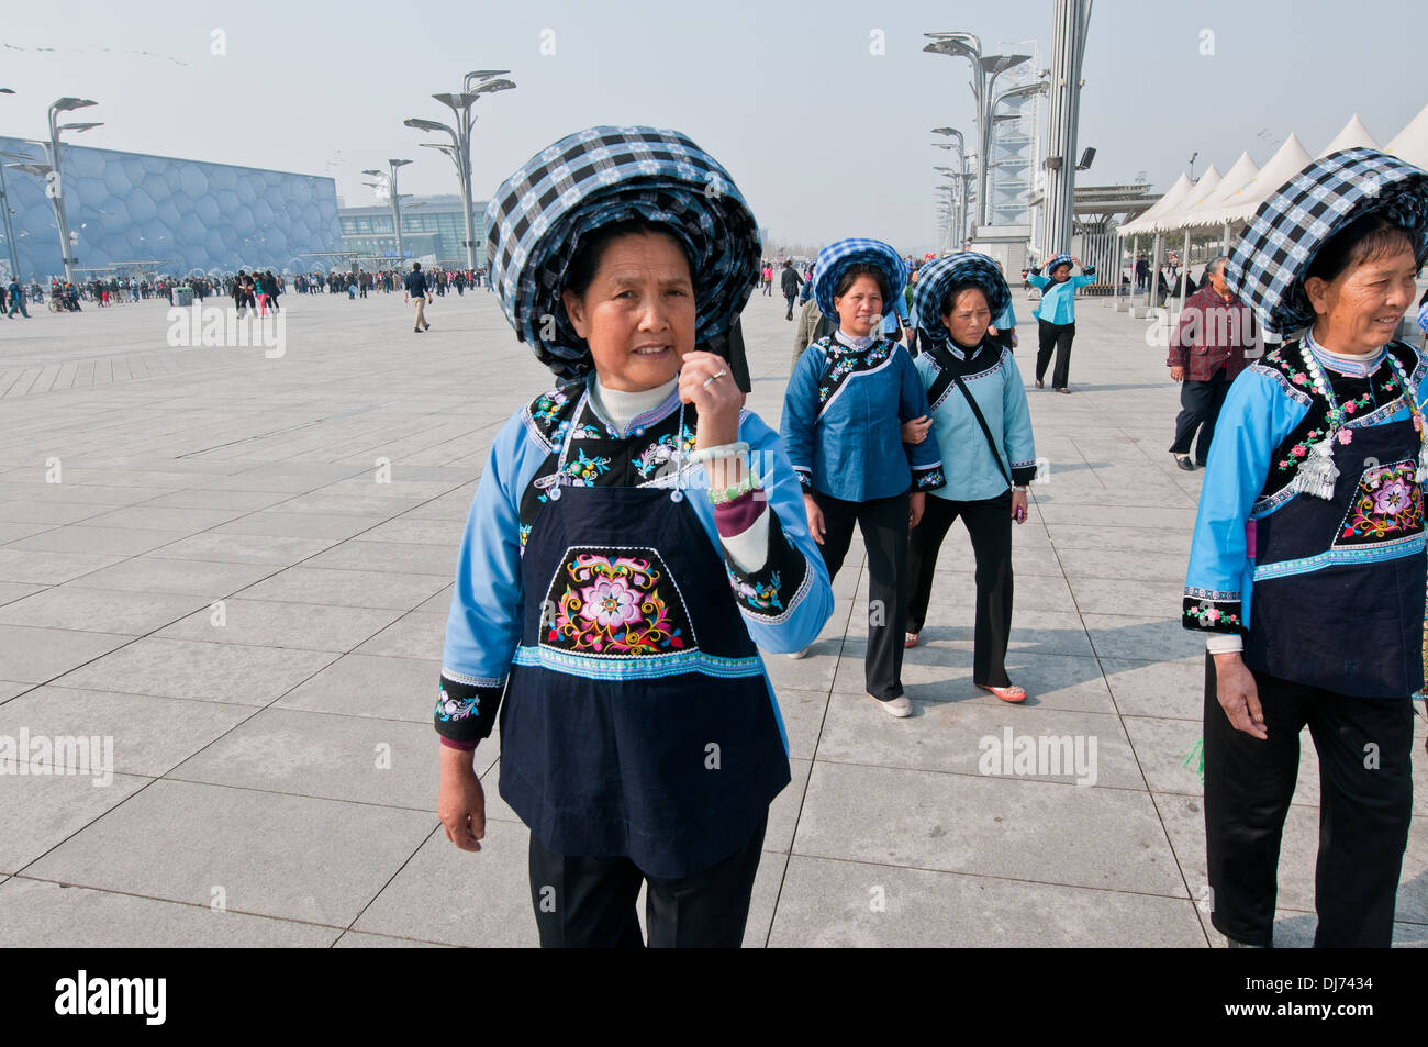
<instances>
[{"instance_id":1,"label":"navy apron with pink flower embroidery on the front woman","mask_svg":"<svg viewBox=\"0 0 1428 1047\"><path fill-rule=\"evenodd\" d=\"M501 797L548 850L628 856L648 876L745 844L788 756L724 560L683 491L553 486L521 581Z\"/></svg>"}]
</instances>

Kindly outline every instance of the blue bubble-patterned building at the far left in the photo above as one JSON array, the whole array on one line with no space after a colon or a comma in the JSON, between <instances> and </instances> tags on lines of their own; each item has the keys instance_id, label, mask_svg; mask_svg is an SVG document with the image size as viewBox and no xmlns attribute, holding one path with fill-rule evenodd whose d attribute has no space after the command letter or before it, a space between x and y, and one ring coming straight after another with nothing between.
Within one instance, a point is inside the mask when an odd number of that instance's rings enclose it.
<instances>
[{"instance_id":1,"label":"blue bubble-patterned building at the far left","mask_svg":"<svg viewBox=\"0 0 1428 1047\"><path fill-rule=\"evenodd\" d=\"M136 273L190 276L238 269L304 271L338 261L331 179L61 144L64 214L76 279ZM9 164L47 163L46 150L0 137L20 274L64 277L46 179ZM4 234L0 227L0 236ZM0 267L9 270L9 250Z\"/></svg>"}]
</instances>

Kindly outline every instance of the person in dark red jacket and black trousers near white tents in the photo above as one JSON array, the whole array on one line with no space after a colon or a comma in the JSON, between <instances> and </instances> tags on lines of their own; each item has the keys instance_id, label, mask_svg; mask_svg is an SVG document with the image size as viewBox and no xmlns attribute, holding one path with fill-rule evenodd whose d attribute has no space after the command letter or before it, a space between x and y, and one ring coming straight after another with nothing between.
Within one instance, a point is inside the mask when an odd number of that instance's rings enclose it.
<instances>
[{"instance_id":1,"label":"person in dark red jacket and black trousers near white tents","mask_svg":"<svg viewBox=\"0 0 1428 1047\"><path fill-rule=\"evenodd\" d=\"M1165 361L1171 380L1184 383L1175 443L1170 446L1170 453L1175 456L1175 464L1187 471L1205 464L1225 393L1245 369L1245 350L1258 337L1254 314L1225 283L1225 261L1228 259L1221 256L1205 267L1208 283L1187 299L1171 334L1170 360ZM1190 460L1191 440L1195 440L1194 463Z\"/></svg>"}]
</instances>

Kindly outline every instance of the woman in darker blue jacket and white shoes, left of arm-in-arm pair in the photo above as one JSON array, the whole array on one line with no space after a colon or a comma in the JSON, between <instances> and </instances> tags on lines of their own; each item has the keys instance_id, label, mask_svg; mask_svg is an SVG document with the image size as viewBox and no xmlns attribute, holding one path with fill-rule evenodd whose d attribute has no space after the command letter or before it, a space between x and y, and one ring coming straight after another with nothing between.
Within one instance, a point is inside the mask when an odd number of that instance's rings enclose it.
<instances>
[{"instance_id":1,"label":"woman in darker blue jacket and white shoes, left of arm-in-arm pair","mask_svg":"<svg viewBox=\"0 0 1428 1047\"><path fill-rule=\"evenodd\" d=\"M781 433L804 489L808 530L834 577L863 530L868 551L868 694L911 716L902 694L907 534L924 496L942 486L937 440L904 447L902 423L927 419L912 357L880 339L907 281L902 257L880 240L840 240L818 253L814 297L838 330L808 346L788 379Z\"/></svg>"}]
</instances>

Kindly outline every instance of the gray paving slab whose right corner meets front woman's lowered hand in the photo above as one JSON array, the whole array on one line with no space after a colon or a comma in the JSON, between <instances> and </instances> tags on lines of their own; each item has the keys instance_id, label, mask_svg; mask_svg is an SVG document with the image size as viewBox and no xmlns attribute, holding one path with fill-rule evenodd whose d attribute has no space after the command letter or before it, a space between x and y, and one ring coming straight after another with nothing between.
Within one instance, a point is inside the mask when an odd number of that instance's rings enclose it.
<instances>
[{"instance_id":1,"label":"gray paving slab whose right corner meets front woman's lowered hand","mask_svg":"<svg viewBox=\"0 0 1428 1047\"><path fill-rule=\"evenodd\" d=\"M417 850L436 814L154 781L27 876L348 927ZM340 874L336 873L340 870Z\"/></svg>"}]
</instances>

